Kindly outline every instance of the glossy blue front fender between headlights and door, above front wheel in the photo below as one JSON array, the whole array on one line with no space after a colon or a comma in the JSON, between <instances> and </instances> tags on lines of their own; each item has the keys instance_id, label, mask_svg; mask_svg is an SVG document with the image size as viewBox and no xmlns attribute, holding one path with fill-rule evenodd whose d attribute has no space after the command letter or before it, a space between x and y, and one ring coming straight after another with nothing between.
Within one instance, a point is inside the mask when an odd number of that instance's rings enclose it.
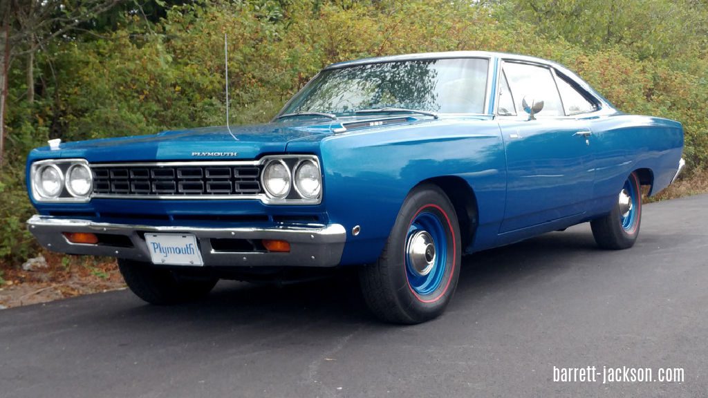
<instances>
[{"instance_id":1,"label":"glossy blue front fender between headlights and door, above front wheel","mask_svg":"<svg viewBox=\"0 0 708 398\"><path fill-rule=\"evenodd\" d=\"M469 183L479 205L476 239L496 238L506 159L493 120L431 120L346 132L321 141L321 158L329 219L348 231L343 264L375 261L406 195L438 176ZM351 234L355 225L361 227L356 237Z\"/></svg>"}]
</instances>

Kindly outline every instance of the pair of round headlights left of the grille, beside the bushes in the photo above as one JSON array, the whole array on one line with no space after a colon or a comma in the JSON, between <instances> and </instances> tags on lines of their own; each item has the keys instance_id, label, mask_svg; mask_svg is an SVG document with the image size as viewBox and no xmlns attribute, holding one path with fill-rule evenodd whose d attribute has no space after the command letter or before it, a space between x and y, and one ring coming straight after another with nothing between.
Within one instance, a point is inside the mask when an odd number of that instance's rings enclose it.
<instances>
[{"instance_id":1,"label":"pair of round headlights left of the grille, beside the bushes","mask_svg":"<svg viewBox=\"0 0 708 398\"><path fill-rule=\"evenodd\" d=\"M93 190L93 172L84 159L37 161L30 178L38 202L87 202Z\"/></svg>"}]
</instances>

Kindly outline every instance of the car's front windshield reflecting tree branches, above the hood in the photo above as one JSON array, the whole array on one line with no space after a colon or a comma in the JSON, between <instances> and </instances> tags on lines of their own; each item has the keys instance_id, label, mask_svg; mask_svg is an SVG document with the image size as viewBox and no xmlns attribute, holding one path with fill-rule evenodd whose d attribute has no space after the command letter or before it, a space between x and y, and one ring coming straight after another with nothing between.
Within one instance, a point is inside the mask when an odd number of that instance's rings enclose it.
<instances>
[{"instance_id":1,"label":"car's front windshield reflecting tree branches, above the hood","mask_svg":"<svg viewBox=\"0 0 708 398\"><path fill-rule=\"evenodd\" d=\"M326 69L280 115L405 108L484 113L488 59L424 59Z\"/></svg>"}]
</instances>

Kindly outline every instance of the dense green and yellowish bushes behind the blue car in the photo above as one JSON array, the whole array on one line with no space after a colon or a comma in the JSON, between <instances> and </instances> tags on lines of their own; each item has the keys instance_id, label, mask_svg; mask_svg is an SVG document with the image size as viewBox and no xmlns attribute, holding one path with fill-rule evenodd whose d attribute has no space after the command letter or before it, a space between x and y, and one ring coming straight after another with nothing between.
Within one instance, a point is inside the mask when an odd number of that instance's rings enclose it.
<instances>
[{"instance_id":1,"label":"dense green and yellowish bushes behind the blue car","mask_svg":"<svg viewBox=\"0 0 708 398\"><path fill-rule=\"evenodd\" d=\"M130 2L126 4L132 4ZM36 250L23 221L26 154L86 140L269 120L331 62L491 50L565 64L628 113L679 120L685 157L708 169L708 6L695 0L137 1L38 52L37 96L10 71L8 164L0 172L0 258ZM93 28L91 28L93 26ZM92 31L93 30L93 31Z\"/></svg>"}]
</instances>

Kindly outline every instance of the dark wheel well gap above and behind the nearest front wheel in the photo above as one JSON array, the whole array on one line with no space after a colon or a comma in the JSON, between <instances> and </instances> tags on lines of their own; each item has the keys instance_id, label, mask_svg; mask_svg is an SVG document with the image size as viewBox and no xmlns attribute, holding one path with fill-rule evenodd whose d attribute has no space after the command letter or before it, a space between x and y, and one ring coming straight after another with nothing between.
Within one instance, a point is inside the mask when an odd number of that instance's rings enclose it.
<instances>
[{"instance_id":1,"label":"dark wheel well gap above and behind the nearest front wheel","mask_svg":"<svg viewBox=\"0 0 708 398\"><path fill-rule=\"evenodd\" d=\"M472 243L474 232L477 228L477 200L472 187L467 181L455 176L444 176L430 178L421 183L433 183L439 186L445 192L447 198L450 198L452 206L455 207L457 213L457 221L459 222L459 232L462 238L462 248L467 247Z\"/></svg>"}]
</instances>

